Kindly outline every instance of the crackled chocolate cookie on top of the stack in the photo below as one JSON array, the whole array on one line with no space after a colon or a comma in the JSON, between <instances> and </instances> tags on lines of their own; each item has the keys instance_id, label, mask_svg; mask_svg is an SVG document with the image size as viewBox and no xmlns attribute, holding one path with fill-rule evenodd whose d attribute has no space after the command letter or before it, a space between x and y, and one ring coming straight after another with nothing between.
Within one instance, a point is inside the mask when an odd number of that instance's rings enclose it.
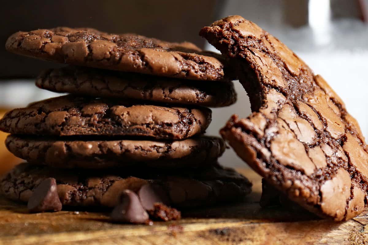
<instances>
[{"instance_id":1,"label":"crackled chocolate cookie on top of the stack","mask_svg":"<svg viewBox=\"0 0 368 245\"><path fill-rule=\"evenodd\" d=\"M192 43L169 43L92 28L39 29L11 35L8 51L44 60L195 80L224 79L221 55Z\"/></svg>"}]
</instances>

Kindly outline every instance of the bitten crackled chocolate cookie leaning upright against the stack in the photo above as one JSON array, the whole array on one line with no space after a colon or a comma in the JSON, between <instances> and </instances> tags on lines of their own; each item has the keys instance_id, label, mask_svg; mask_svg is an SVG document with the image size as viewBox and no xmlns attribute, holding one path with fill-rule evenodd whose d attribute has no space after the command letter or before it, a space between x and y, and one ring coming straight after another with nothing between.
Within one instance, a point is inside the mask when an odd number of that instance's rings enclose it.
<instances>
[{"instance_id":1,"label":"bitten crackled chocolate cookie leaning upright against the stack","mask_svg":"<svg viewBox=\"0 0 368 245\"><path fill-rule=\"evenodd\" d=\"M240 16L200 32L236 66L253 113L221 130L237 154L304 208L336 221L367 203L367 145L357 121L319 75Z\"/></svg>"}]
</instances>

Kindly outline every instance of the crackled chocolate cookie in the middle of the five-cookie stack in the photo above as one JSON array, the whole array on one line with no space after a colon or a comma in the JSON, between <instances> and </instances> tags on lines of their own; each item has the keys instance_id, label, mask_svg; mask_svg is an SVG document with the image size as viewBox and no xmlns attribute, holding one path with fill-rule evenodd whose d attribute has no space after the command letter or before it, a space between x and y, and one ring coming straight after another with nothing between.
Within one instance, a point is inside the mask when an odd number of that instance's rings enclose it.
<instances>
[{"instance_id":1,"label":"crackled chocolate cookie in the middle of the five-cookie stack","mask_svg":"<svg viewBox=\"0 0 368 245\"><path fill-rule=\"evenodd\" d=\"M205 107L162 107L67 95L8 112L0 120L0 130L32 135L183 139L203 133L210 121L211 110Z\"/></svg>"}]
</instances>

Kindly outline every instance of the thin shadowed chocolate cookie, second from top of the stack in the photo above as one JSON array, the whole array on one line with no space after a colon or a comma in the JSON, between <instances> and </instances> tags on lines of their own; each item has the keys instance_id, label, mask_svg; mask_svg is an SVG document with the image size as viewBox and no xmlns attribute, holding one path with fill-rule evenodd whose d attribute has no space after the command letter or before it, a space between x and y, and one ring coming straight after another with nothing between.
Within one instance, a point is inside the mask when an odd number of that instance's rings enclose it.
<instances>
[{"instance_id":1,"label":"thin shadowed chocolate cookie, second from top of the stack","mask_svg":"<svg viewBox=\"0 0 368 245\"><path fill-rule=\"evenodd\" d=\"M81 96L115 97L206 107L224 107L236 101L232 82L195 82L81 67L44 71L37 78L36 85L41 89Z\"/></svg>"}]
</instances>

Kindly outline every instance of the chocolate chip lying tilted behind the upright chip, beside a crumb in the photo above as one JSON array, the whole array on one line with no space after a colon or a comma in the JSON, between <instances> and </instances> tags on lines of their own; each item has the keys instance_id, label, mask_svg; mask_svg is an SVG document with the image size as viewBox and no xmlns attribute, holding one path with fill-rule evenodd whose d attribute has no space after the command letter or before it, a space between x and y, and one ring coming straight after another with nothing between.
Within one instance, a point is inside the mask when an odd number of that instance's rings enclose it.
<instances>
[{"instance_id":1,"label":"chocolate chip lying tilted behind the upright chip, beside a crumb","mask_svg":"<svg viewBox=\"0 0 368 245\"><path fill-rule=\"evenodd\" d=\"M169 205L169 197L162 187L156 184L146 184L138 191L139 199L146 210L153 210L155 203Z\"/></svg>"}]
</instances>

